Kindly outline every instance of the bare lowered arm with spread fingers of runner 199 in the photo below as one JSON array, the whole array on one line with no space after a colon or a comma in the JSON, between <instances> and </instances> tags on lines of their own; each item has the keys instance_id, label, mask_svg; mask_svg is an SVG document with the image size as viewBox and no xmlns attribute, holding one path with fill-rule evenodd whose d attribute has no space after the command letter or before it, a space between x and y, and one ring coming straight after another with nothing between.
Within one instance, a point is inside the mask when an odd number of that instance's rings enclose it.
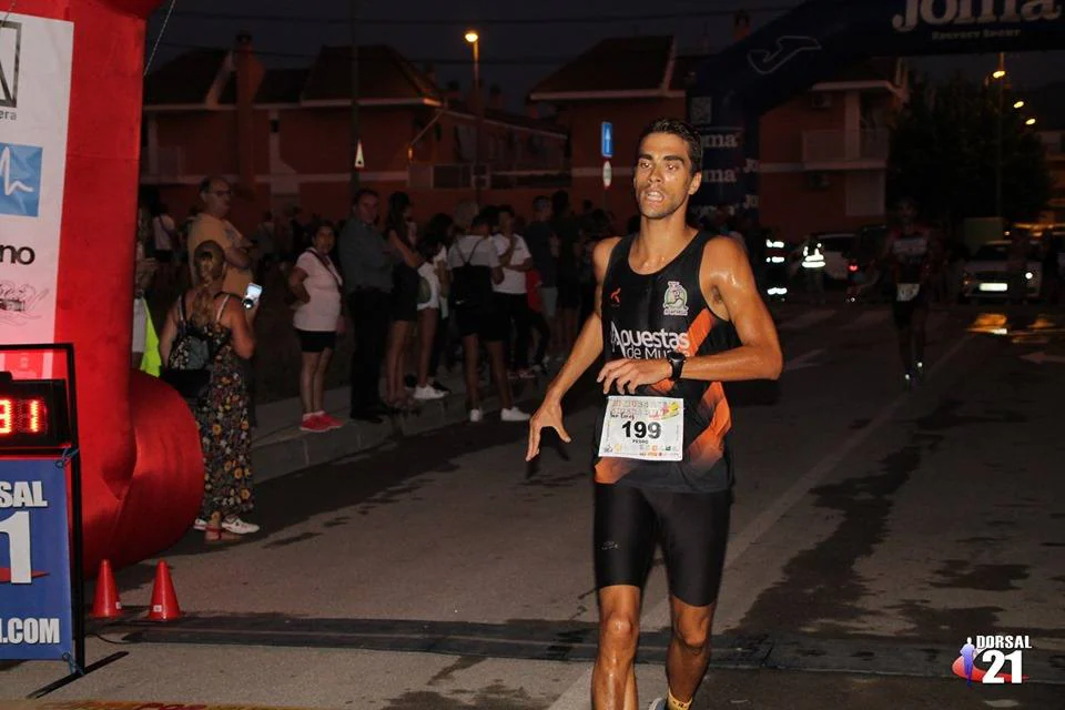
<instances>
[{"instance_id":1,"label":"bare lowered arm with spread fingers of runner 199","mask_svg":"<svg viewBox=\"0 0 1065 710\"><path fill-rule=\"evenodd\" d=\"M558 373L555 379L547 388L544 396L544 403L529 420L529 448L526 452L525 460L529 462L540 453L540 432L547 427L558 432L564 442L569 442L569 433L562 426L562 397L569 392L586 369L591 367L600 354L602 354L602 281L607 275L607 264L610 261L610 252L620 241L620 237L610 237L602 240L596 245L591 255L592 265L596 270L596 302L595 310L588 320L585 321L577 342L574 343L574 349L566 364Z\"/></svg>"}]
</instances>

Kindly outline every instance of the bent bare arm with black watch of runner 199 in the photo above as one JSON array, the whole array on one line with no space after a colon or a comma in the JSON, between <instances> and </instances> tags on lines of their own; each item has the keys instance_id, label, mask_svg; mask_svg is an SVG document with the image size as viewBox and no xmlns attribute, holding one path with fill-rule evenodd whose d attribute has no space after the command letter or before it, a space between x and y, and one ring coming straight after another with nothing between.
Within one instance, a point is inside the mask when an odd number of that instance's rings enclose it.
<instances>
[{"instance_id":1,"label":"bent bare arm with black watch of runner 199","mask_svg":"<svg viewBox=\"0 0 1065 710\"><path fill-rule=\"evenodd\" d=\"M777 379L783 368L777 326L742 247L732 240L711 240L702 253L699 277L707 303L732 322L741 345L688 358L682 376L711 382Z\"/></svg>"}]
</instances>

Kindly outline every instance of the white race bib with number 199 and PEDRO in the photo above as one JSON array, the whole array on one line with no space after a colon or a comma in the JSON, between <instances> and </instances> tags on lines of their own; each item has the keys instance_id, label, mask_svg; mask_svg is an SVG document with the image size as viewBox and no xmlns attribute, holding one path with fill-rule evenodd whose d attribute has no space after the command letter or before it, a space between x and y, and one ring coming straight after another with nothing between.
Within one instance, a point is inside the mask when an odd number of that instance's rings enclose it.
<instances>
[{"instance_id":1,"label":"white race bib with number 199 and PEDRO","mask_svg":"<svg viewBox=\"0 0 1065 710\"><path fill-rule=\"evenodd\" d=\"M684 457L684 400L674 397L607 398L599 456L679 462Z\"/></svg>"}]
</instances>

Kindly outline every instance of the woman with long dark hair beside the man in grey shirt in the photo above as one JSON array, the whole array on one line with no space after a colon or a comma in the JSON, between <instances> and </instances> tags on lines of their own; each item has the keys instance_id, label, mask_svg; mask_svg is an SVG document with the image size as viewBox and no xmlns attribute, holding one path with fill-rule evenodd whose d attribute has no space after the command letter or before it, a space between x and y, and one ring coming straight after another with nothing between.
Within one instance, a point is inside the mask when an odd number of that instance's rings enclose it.
<instances>
[{"instance_id":1,"label":"woman with long dark hair beside the man in grey shirt","mask_svg":"<svg viewBox=\"0 0 1065 710\"><path fill-rule=\"evenodd\" d=\"M408 404L403 382L403 356L418 320L418 268L425 263L415 250L414 205L405 192L388 196L385 237L399 257L393 271L392 325L385 346L385 404L403 407Z\"/></svg>"}]
</instances>

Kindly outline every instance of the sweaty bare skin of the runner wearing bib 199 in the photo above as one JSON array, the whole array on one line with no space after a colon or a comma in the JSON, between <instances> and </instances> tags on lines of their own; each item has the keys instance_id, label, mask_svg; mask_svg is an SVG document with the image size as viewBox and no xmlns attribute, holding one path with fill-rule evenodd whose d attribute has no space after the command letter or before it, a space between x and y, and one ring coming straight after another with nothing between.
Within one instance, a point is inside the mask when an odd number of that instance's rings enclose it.
<instances>
[{"instance_id":1,"label":"sweaty bare skin of the runner wearing bib 199","mask_svg":"<svg viewBox=\"0 0 1065 710\"><path fill-rule=\"evenodd\" d=\"M688 151L684 139L673 133L650 133L640 143L632 182L642 216L639 234L625 256L637 274L656 273L698 234L684 221L688 199L701 181L701 174L692 169ZM526 460L539 455L545 427L555 429L564 442L571 440L562 423L561 400L602 354L602 284L611 251L619 241L620 237L602 240L592 252L595 311L529 423ZM742 247L729 239L707 243L699 281L710 310L717 317L732 322L741 345L688 358L682 376L720 382L775 379L783 364L780 343ZM633 392L638 385L655 384L671 374L666 359L616 359L602 366L597 381L604 393L613 386ZM641 596L639 587L626 584L599 589L599 649L591 680L596 710L637 710L633 662ZM687 702L694 696L709 663L709 635L716 604L693 607L671 595L670 607L672 640L667 656L667 678L671 694Z\"/></svg>"}]
</instances>

